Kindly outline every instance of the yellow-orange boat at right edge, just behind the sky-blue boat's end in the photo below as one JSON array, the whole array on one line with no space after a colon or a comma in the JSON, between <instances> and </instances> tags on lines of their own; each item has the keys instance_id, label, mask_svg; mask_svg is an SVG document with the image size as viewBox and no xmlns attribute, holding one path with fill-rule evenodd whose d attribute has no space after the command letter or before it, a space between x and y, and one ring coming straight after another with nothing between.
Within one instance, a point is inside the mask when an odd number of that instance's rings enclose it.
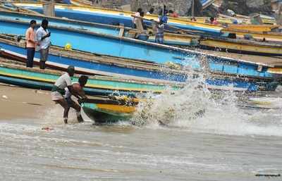
<instances>
[{"instance_id":1,"label":"yellow-orange boat at right edge, just behind the sky-blue boat's end","mask_svg":"<svg viewBox=\"0 0 282 181\"><path fill-rule=\"evenodd\" d=\"M263 56L282 56L282 44L226 37L204 37L200 39L204 49L228 51L240 54L258 54Z\"/></svg>"}]
</instances>

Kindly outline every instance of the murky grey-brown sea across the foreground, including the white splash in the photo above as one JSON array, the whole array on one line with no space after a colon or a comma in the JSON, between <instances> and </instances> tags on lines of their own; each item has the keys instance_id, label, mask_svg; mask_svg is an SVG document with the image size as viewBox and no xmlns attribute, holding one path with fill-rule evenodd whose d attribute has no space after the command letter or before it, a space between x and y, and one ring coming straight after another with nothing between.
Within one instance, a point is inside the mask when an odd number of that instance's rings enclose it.
<instances>
[{"instance_id":1,"label":"murky grey-brown sea across the foreground, including the white splash","mask_svg":"<svg viewBox=\"0 0 282 181\"><path fill-rule=\"evenodd\" d=\"M234 92L214 96L200 82L140 104L135 125L64 125L59 106L1 120L0 180L281 180L256 176L282 173L281 99L242 108Z\"/></svg>"}]
</instances>

